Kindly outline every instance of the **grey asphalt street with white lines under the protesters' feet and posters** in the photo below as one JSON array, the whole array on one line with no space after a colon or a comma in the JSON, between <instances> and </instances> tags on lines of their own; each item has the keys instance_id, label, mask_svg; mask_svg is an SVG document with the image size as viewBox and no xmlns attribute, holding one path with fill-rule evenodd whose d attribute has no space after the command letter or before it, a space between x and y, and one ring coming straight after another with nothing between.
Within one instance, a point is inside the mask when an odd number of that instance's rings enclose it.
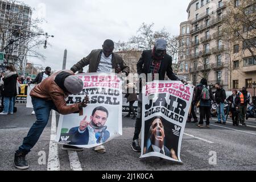
<instances>
[{"instance_id":1,"label":"grey asphalt street with white lines under the protesters' feet and posters","mask_svg":"<svg viewBox=\"0 0 256 182\"><path fill-rule=\"evenodd\" d=\"M18 105L14 115L0 115L0 169L14 168L14 152L26 137L35 121L32 109ZM125 114L123 114L124 116ZM47 128L39 142L27 155L29 170L255 170L256 169L256 121L250 118L247 127L234 127L229 118L227 125L218 125L211 119L209 129L199 129L195 123L187 123L181 146L181 160L174 163L159 158L139 159L140 153L131 150L135 120L123 118L123 135L105 144L106 154L92 149L67 152L50 139L55 136L59 114L52 112ZM55 123L56 122L56 123ZM46 158L44 158L46 154ZM209 159L216 154L215 164ZM214 161L214 160L213 160Z\"/></svg>"}]
</instances>

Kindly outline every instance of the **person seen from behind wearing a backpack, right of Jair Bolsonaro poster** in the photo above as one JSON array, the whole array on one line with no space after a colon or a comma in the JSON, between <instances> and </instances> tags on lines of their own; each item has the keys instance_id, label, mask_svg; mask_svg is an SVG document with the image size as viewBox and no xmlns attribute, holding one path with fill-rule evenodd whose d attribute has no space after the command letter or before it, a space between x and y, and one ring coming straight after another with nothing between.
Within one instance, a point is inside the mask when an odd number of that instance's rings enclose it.
<instances>
[{"instance_id":1,"label":"person seen from behind wearing a backpack, right of Jair Bolsonaro poster","mask_svg":"<svg viewBox=\"0 0 256 182\"><path fill-rule=\"evenodd\" d=\"M207 84L207 79L202 78L200 84L196 86L195 98L193 105L200 105L200 121L198 127L204 127L204 118L206 117L206 127L210 127L210 101L214 101L212 90Z\"/></svg>"}]
</instances>

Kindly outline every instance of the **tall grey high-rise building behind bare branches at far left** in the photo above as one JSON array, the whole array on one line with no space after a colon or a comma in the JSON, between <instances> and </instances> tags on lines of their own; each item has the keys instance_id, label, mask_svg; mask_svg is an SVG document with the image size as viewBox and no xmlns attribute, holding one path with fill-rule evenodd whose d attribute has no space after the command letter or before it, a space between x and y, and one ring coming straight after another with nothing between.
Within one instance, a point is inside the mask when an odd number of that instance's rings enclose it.
<instances>
[{"instance_id":1,"label":"tall grey high-rise building behind bare branches at far left","mask_svg":"<svg viewBox=\"0 0 256 182\"><path fill-rule=\"evenodd\" d=\"M26 52L26 35L30 31L31 8L0 1L0 52L5 62L19 68Z\"/></svg>"}]
</instances>

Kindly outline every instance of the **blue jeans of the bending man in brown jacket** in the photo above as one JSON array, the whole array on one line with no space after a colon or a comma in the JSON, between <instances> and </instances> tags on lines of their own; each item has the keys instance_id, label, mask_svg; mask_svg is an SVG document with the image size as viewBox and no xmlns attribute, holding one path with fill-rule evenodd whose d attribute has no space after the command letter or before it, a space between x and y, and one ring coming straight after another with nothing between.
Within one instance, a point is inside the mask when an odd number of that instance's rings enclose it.
<instances>
[{"instance_id":1,"label":"blue jeans of the bending man in brown jacket","mask_svg":"<svg viewBox=\"0 0 256 182\"><path fill-rule=\"evenodd\" d=\"M18 153L23 152L24 154L28 154L28 152L30 152L31 148L35 146L40 135L43 133L48 123L51 110L56 110L52 101L46 101L41 98L32 97L32 104L36 115L36 122L32 125L30 131L28 131L27 137L23 139L19 150L16 151Z\"/></svg>"}]
</instances>

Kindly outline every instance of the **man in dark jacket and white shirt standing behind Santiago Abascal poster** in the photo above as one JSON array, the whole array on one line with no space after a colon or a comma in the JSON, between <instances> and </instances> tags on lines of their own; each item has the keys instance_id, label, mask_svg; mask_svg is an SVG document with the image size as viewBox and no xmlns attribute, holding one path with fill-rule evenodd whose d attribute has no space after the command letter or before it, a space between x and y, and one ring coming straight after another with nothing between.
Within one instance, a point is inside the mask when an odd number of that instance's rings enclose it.
<instances>
[{"instance_id":1,"label":"man in dark jacket and white shirt standing behind Santiago Abascal poster","mask_svg":"<svg viewBox=\"0 0 256 182\"><path fill-rule=\"evenodd\" d=\"M122 57L117 53L114 53L114 42L113 40L105 40L102 45L102 49L93 50L87 57L84 57L77 64L73 65L71 71L76 73L89 65L89 73L121 73L123 77L126 77L130 73L130 68L125 64ZM81 71L80 71L81 72ZM63 146L67 148L68 146ZM72 148L69 148L72 150ZM75 148L77 150L77 148ZM80 151L82 148L80 148ZM94 151L99 153L106 152L105 146L94 147Z\"/></svg>"}]
</instances>

